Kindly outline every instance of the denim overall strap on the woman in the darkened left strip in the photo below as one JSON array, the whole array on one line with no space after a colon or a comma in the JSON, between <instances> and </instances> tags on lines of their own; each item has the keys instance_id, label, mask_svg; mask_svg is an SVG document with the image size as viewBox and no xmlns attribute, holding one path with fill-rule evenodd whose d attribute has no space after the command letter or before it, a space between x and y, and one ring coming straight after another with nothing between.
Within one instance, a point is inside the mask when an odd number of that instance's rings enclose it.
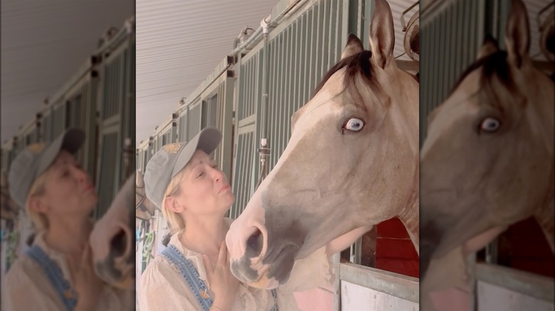
<instances>
[{"instance_id":1,"label":"denim overall strap on the woman in the darkened left strip","mask_svg":"<svg viewBox=\"0 0 555 311\"><path fill-rule=\"evenodd\" d=\"M26 251L26 254L36 261L38 266L41 266L48 280L50 280L50 283L58 292L58 295L65 305L65 309L73 311L75 305L77 305L77 295L75 291L73 291L73 288L71 288L70 283L63 278L62 271L56 262L48 257L43 249L36 245L31 246L31 248Z\"/></svg>"}]
</instances>

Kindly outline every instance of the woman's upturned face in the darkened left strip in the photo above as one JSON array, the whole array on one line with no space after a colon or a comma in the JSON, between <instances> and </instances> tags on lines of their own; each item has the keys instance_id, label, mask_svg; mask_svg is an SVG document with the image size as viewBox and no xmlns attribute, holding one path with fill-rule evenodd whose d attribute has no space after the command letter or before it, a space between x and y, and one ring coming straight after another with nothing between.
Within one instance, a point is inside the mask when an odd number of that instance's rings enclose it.
<instances>
[{"instance_id":1,"label":"woman's upturned face in the darkened left strip","mask_svg":"<svg viewBox=\"0 0 555 311\"><path fill-rule=\"evenodd\" d=\"M89 214L98 197L87 172L67 151L60 151L46 171L39 200L53 214ZM47 213L48 213L47 212Z\"/></svg>"}]
</instances>

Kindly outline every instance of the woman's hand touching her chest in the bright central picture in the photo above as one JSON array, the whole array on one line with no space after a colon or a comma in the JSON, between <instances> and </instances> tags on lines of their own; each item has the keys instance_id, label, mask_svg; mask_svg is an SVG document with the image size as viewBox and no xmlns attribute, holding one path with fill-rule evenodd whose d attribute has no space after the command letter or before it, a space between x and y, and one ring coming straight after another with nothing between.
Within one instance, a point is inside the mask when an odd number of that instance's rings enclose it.
<instances>
[{"instance_id":1,"label":"woman's hand touching her chest in the bright central picture","mask_svg":"<svg viewBox=\"0 0 555 311\"><path fill-rule=\"evenodd\" d=\"M212 263L208 256L202 256L204 268L206 269L206 277L210 283L210 289L214 293L213 306L218 307L222 311L231 310L235 302L239 280L233 276L229 269L229 258L226 241L222 241L220 253L218 253L218 263L212 268Z\"/></svg>"}]
</instances>

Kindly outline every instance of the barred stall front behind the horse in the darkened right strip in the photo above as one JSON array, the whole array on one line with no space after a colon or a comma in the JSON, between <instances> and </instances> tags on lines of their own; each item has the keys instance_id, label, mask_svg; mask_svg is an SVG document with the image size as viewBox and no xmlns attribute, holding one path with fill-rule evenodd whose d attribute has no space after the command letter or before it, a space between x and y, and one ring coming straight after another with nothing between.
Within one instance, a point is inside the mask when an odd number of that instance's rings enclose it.
<instances>
[{"instance_id":1,"label":"barred stall front behind the horse in the darkened right strip","mask_svg":"<svg viewBox=\"0 0 555 311\"><path fill-rule=\"evenodd\" d=\"M439 6L439 7L438 7ZM485 31L485 0L435 1L423 8L420 32L420 143L428 115L476 58Z\"/></svg>"}]
</instances>

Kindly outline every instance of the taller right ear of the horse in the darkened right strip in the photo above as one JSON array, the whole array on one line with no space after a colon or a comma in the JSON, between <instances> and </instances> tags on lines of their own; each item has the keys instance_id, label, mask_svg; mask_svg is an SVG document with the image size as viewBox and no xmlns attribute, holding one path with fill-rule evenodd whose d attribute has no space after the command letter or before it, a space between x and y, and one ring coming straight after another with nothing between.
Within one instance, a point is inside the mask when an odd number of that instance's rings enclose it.
<instances>
[{"instance_id":1,"label":"taller right ear of the horse in the darkened right strip","mask_svg":"<svg viewBox=\"0 0 555 311\"><path fill-rule=\"evenodd\" d=\"M509 62L520 67L522 59L528 56L530 50L530 23L526 6L521 0L511 1L511 12L505 29L505 45Z\"/></svg>"}]
</instances>

